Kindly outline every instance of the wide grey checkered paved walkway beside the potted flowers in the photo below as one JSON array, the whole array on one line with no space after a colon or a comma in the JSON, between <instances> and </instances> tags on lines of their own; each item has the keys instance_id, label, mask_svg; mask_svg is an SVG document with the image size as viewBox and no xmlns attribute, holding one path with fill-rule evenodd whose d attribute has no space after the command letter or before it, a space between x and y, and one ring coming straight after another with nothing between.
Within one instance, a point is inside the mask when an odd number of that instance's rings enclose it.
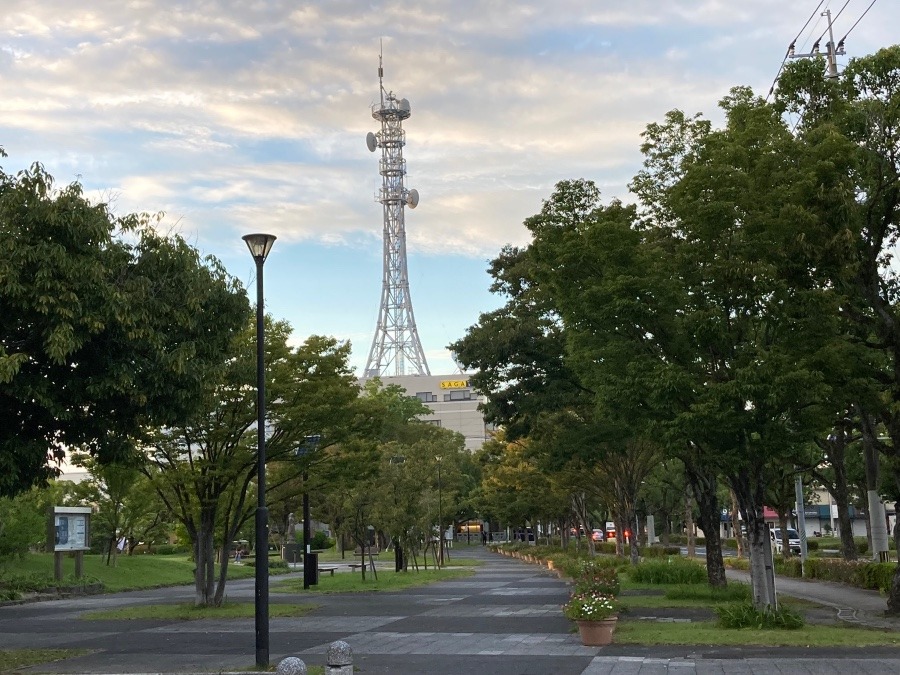
<instances>
[{"instance_id":1,"label":"wide grey checkered paved walkway beside the potted flowers","mask_svg":"<svg viewBox=\"0 0 900 675\"><path fill-rule=\"evenodd\" d=\"M900 672L896 649L583 647L559 609L568 596L565 582L537 565L481 547L462 547L453 554L481 558L485 564L465 580L395 593L313 598L273 593L272 604L299 599L315 602L320 608L303 618L271 620L272 662L300 656L307 664L324 664L327 646L340 639L350 644L355 669L364 675ZM277 584L273 579L273 588ZM780 580L779 584L780 591L787 592L785 584ZM812 596L817 586L809 584L810 588L804 590ZM859 602L854 599L855 593L849 589L847 597L836 604L860 610L851 604ZM821 594L834 597L828 587ZM228 596L252 602L253 581L229 583ZM192 597L192 588L180 587L0 607L0 648L96 650L22 672L188 673L252 668L252 619L165 622L79 618L94 609L185 602ZM881 602L883 608L883 599Z\"/></svg>"}]
</instances>

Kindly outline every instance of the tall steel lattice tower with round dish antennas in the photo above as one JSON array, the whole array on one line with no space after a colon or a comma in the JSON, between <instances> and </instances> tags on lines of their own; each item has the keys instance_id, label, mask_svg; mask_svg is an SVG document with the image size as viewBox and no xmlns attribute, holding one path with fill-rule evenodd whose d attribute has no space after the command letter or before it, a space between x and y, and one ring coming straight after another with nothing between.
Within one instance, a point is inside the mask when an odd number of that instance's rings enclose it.
<instances>
[{"instance_id":1,"label":"tall steel lattice tower with round dish antennas","mask_svg":"<svg viewBox=\"0 0 900 675\"><path fill-rule=\"evenodd\" d=\"M408 205L412 209L419 203L419 193L407 190L404 185L406 134L403 120L410 115L409 101L398 99L393 92L385 92L380 55L378 86L380 101L372 105L372 117L381 122L381 131L369 132L366 145L371 152L381 148L378 165L381 189L376 201L381 202L384 217L384 273L378 326L366 361L365 376L431 375L416 330L406 269L404 208Z\"/></svg>"}]
</instances>

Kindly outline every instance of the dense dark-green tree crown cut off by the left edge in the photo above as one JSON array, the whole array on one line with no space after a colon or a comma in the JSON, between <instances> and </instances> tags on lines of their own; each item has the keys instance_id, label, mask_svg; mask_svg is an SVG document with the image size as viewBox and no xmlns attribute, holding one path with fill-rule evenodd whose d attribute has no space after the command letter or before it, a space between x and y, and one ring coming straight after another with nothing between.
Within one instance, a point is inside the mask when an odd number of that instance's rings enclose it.
<instances>
[{"instance_id":1,"label":"dense dark-green tree crown cut off by the left edge","mask_svg":"<svg viewBox=\"0 0 900 675\"><path fill-rule=\"evenodd\" d=\"M247 315L217 261L38 164L0 170L0 247L0 495L186 419Z\"/></svg>"}]
</instances>

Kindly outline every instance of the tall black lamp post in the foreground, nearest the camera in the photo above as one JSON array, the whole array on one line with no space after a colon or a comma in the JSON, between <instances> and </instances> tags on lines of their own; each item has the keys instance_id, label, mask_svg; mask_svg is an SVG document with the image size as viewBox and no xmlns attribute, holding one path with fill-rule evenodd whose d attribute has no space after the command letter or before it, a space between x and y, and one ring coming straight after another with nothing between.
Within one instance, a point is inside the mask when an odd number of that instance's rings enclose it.
<instances>
[{"instance_id":1,"label":"tall black lamp post in the foreground, nearest the camera","mask_svg":"<svg viewBox=\"0 0 900 675\"><path fill-rule=\"evenodd\" d=\"M266 370L263 263L275 236L247 234L250 255L256 262L256 665L269 666L269 511L266 508Z\"/></svg>"}]
</instances>

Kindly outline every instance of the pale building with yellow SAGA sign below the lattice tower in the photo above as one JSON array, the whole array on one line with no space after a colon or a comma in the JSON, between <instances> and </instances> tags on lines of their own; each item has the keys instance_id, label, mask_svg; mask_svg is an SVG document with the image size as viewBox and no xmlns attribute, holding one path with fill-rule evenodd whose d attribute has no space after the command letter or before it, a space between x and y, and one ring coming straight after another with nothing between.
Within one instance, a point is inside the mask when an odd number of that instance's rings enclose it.
<instances>
[{"instance_id":1,"label":"pale building with yellow SAGA sign below the lattice tower","mask_svg":"<svg viewBox=\"0 0 900 675\"><path fill-rule=\"evenodd\" d=\"M381 377L384 385L395 384L431 408L424 422L458 431L466 439L469 452L478 450L490 438L492 427L485 424L478 404L485 397L469 385L466 375L397 375Z\"/></svg>"}]
</instances>

